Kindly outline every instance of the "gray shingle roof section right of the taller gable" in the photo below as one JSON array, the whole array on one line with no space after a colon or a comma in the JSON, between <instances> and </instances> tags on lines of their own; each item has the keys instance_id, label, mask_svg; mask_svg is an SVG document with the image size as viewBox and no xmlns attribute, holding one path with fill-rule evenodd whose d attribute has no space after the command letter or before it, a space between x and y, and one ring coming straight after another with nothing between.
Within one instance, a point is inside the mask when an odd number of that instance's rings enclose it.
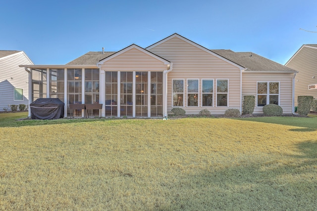
<instances>
[{"instance_id":1,"label":"gray shingle roof section right of the taller gable","mask_svg":"<svg viewBox=\"0 0 317 211\"><path fill-rule=\"evenodd\" d=\"M242 66L246 71L296 72L277 62L252 52L234 52L232 50L211 50L212 52Z\"/></svg>"}]
</instances>

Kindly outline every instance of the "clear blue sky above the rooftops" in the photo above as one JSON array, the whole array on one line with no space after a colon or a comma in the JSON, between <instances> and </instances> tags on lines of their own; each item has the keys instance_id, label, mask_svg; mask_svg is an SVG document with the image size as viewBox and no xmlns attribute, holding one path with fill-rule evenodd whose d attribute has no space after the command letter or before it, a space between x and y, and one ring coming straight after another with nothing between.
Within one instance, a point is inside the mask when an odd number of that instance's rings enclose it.
<instances>
[{"instance_id":1,"label":"clear blue sky above the rooftops","mask_svg":"<svg viewBox=\"0 0 317 211\"><path fill-rule=\"evenodd\" d=\"M174 33L209 49L252 51L285 64L317 43L317 0L5 0L0 50L35 64L66 64L88 51L147 47Z\"/></svg>"}]
</instances>

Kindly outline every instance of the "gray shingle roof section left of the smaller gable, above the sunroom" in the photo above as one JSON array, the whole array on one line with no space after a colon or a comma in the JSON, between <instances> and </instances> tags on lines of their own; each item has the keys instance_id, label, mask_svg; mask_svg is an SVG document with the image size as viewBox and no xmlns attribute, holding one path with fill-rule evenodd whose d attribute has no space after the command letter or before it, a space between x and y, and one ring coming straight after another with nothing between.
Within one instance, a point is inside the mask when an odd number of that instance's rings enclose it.
<instances>
[{"instance_id":1,"label":"gray shingle roof section left of the smaller gable, above the sunroom","mask_svg":"<svg viewBox=\"0 0 317 211\"><path fill-rule=\"evenodd\" d=\"M112 55L115 52L90 51L77 59L68 62L66 65L96 65L100 60Z\"/></svg>"}]
</instances>

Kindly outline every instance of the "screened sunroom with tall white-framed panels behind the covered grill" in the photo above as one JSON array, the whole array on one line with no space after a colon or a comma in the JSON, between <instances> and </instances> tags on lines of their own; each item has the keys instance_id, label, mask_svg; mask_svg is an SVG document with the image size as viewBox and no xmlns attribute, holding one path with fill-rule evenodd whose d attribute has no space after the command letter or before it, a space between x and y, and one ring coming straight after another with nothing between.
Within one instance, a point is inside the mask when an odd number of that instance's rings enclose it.
<instances>
[{"instance_id":1,"label":"screened sunroom with tall white-framed panels behind the covered grill","mask_svg":"<svg viewBox=\"0 0 317 211\"><path fill-rule=\"evenodd\" d=\"M30 102L59 98L65 103L65 117L163 117L163 71L100 71L67 65L25 68L30 73ZM103 106L101 111L73 111L71 104Z\"/></svg>"}]
</instances>

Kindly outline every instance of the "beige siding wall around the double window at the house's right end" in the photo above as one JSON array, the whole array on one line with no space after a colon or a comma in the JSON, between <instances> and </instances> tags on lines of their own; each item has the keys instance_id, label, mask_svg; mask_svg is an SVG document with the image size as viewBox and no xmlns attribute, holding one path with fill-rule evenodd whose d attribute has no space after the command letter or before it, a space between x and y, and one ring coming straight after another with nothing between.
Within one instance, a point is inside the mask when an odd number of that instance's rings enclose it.
<instances>
[{"instance_id":1,"label":"beige siding wall around the double window at the house's right end","mask_svg":"<svg viewBox=\"0 0 317 211\"><path fill-rule=\"evenodd\" d=\"M292 81L294 73L242 73L242 101L245 95L254 95L254 114L263 114L263 107L257 107L257 82L279 82L279 105L283 114L292 113Z\"/></svg>"}]
</instances>

